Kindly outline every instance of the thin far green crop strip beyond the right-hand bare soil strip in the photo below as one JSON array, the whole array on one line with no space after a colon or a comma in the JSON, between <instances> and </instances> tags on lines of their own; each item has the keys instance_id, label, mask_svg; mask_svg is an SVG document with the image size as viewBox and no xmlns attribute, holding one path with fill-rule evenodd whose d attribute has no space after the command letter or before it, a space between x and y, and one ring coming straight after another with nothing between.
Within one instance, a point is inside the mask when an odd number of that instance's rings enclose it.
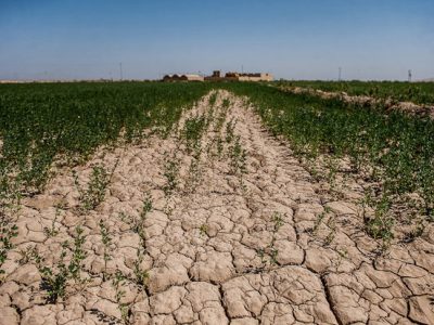
<instances>
[{"instance_id":1,"label":"thin far green crop strip beyond the right-hand bare soil strip","mask_svg":"<svg viewBox=\"0 0 434 325\"><path fill-rule=\"evenodd\" d=\"M434 105L434 82L297 80L277 81L276 84Z\"/></svg>"}]
</instances>

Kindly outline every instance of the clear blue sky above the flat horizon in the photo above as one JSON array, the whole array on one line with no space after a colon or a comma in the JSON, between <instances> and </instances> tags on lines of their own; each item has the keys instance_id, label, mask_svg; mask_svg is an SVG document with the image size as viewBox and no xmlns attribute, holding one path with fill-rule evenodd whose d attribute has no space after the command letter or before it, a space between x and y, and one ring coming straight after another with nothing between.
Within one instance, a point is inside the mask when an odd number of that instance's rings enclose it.
<instances>
[{"instance_id":1,"label":"clear blue sky above the flat horizon","mask_svg":"<svg viewBox=\"0 0 434 325\"><path fill-rule=\"evenodd\" d=\"M434 0L0 0L0 79L434 78Z\"/></svg>"}]
</instances>

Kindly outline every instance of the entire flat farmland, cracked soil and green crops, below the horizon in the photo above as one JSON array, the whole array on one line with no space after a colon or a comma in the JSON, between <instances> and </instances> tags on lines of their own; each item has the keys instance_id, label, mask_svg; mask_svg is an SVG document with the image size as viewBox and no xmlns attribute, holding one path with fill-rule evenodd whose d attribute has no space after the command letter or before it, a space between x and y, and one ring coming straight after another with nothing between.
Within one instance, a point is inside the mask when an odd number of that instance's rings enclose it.
<instances>
[{"instance_id":1,"label":"entire flat farmland, cracked soil and green crops, below the horizon","mask_svg":"<svg viewBox=\"0 0 434 325\"><path fill-rule=\"evenodd\" d=\"M0 84L0 324L432 324L432 90L276 86Z\"/></svg>"}]
</instances>

